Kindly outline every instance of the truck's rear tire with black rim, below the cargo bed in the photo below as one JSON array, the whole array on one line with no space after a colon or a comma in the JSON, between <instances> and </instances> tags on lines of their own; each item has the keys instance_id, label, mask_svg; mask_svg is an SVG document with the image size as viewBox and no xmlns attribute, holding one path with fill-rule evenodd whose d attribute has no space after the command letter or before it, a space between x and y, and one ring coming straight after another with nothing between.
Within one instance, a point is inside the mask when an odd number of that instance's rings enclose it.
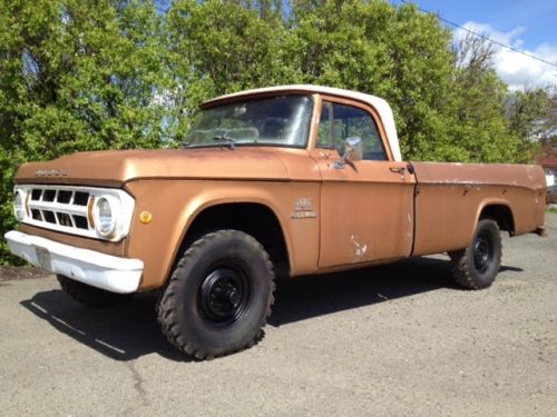
<instances>
[{"instance_id":1,"label":"truck's rear tire with black rim, below the cargo bed","mask_svg":"<svg viewBox=\"0 0 557 417\"><path fill-rule=\"evenodd\" d=\"M501 235L497 222L482 219L473 234L470 246L449 252L455 281L468 289L489 287L501 265Z\"/></svg>"}]
</instances>

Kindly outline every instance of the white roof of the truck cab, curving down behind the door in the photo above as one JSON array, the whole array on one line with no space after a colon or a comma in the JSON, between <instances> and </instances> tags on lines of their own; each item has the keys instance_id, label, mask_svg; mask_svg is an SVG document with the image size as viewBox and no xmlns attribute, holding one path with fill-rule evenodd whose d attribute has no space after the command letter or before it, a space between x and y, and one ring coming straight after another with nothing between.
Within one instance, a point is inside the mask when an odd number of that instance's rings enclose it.
<instances>
[{"instance_id":1,"label":"white roof of the truck cab, curving down behind the door","mask_svg":"<svg viewBox=\"0 0 557 417\"><path fill-rule=\"evenodd\" d=\"M207 101L206 103L211 103L213 101L226 100L231 98L250 96L256 93L265 93L265 92L281 92L281 91L306 91L311 93L323 93L330 96L345 97L354 100L362 101L367 105L373 107L379 116L381 117L381 121L383 122L383 127L387 133L387 139L389 140L389 146L391 147L392 157L395 161L401 161L402 157L400 153L400 145L399 137L397 135L397 127L394 126L394 117L392 115L391 106L383 100L382 98L365 95L363 92L344 90L341 88L332 88L332 87L323 87L323 86L311 86L311 85L290 85L290 86L276 86L276 87L266 87L266 88L257 88L253 90L246 90L241 92L234 92L232 95L221 96L213 100Z\"/></svg>"}]
</instances>

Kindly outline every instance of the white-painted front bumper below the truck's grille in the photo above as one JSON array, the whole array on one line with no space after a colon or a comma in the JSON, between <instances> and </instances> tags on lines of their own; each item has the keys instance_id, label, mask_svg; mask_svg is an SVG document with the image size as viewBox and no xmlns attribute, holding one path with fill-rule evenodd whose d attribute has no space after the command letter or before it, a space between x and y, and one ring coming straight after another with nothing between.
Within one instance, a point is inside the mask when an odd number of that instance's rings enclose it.
<instances>
[{"instance_id":1,"label":"white-painted front bumper below the truck's grille","mask_svg":"<svg viewBox=\"0 0 557 417\"><path fill-rule=\"evenodd\" d=\"M49 272L113 292L129 294L139 288L143 275L140 259L76 248L16 230L8 231L4 238L13 255Z\"/></svg>"}]
</instances>

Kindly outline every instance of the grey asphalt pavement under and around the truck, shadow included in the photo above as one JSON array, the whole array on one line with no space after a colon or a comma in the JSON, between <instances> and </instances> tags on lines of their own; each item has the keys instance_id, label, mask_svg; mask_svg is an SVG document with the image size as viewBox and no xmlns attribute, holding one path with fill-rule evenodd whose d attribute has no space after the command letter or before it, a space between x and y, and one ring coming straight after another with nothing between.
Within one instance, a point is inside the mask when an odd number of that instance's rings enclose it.
<instances>
[{"instance_id":1,"label":"grey asphalt pavement under and around the truck, shadow included","mask_svg":"<svg viewBox=\"0 0 557 417\"><path fill-rule=\"evenodd\" d=\"M281 282L266 336L193 361L154 298L87 309L53 277L0 279L0 415L556 416L557 215L504 239L494 286L446 257Z\"/></svg>"}]
</instances>

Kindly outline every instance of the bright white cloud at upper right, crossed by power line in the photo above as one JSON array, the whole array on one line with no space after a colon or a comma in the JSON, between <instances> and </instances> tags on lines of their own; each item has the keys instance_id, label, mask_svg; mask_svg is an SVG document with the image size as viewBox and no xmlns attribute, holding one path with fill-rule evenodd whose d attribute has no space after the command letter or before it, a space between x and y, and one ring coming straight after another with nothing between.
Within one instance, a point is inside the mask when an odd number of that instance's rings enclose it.
<instances>
[{"instance_id":1,"label":"bright white cloud at upper right, crossed by power line","mask_svg":"<svg viewBox=\"0 0 557 417\"><path fill-rule=\"evenodd\" d=\"M471 21L467 22L463 27L498 42L520 49L528 54L539 57L549 62L557 62L557 44L541 43L534 50L522 48L524 41L520 39L520 34L526 31L524 27L515 28L510 32L500 32L489 24ZM455 39L461 39L466 33L465 30L457 29L455 30ZM509 85L510 90L557 85L556 67L495 43L494 50L496 51L494 64L497 73Z\"/></svg>"}]
</instances>

